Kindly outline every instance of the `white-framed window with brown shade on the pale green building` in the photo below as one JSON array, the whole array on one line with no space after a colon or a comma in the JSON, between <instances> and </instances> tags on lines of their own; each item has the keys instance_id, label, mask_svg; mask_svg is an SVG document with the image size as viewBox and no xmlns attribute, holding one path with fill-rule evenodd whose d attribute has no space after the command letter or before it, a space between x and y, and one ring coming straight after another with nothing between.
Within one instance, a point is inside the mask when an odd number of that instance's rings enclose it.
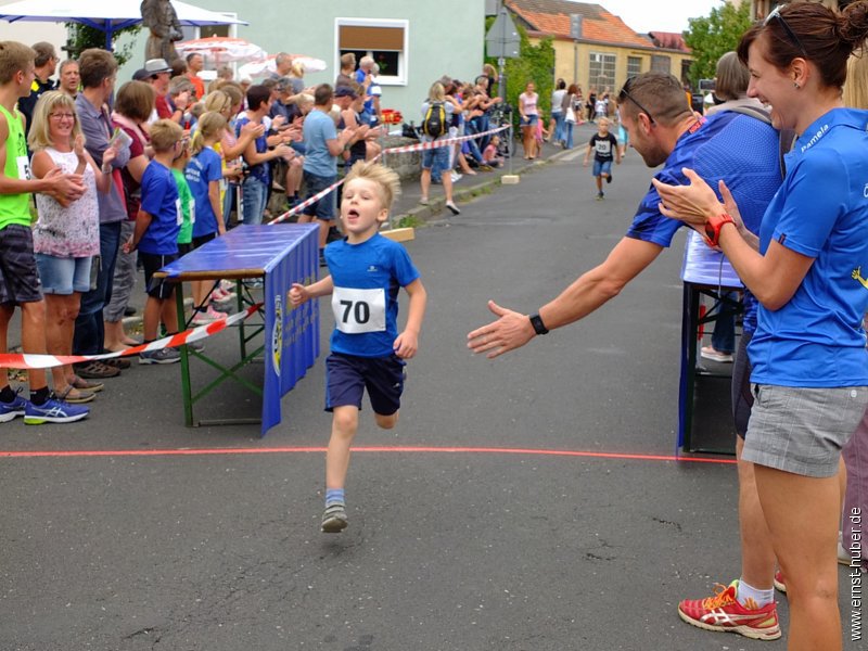
<instances>
[{"instance_id":1,"label":"white-framed window with brown shade on the pale green building","mask_svg":"<svg viewBox=\"0 0 868 651\"><path fill-rule=\"evenodd\" d=\"M334 69L341 69L341 56L353 52L358 62L371 56L380 66L378 80L383 86L407 84L408 22L378 18L335 18Z\"/></svg>"}]
</instances>

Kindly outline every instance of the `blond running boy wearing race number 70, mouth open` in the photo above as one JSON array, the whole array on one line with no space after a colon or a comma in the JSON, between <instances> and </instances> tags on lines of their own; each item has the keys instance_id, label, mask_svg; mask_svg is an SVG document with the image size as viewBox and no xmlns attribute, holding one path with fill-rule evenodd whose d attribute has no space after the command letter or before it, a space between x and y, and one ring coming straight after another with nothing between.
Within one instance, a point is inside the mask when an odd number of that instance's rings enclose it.
<instances>
[{"instance_id":1,"label":"blond running boy wearing race number 70, mouth open","mask_svg":"<svg viewBox=\"0 0 868 651\"><path fill-rule=\"evenodd\" d=\"M332 294L334 332L326 360L326 410L333 413L326 455L326 512L322 531L347 526L344 482L349 446L358 429L367 388L376 424L395 426L404 391L405 359L416 355L426 294L419 271L400 244L379 234L400 192L398 175L375 163L357 163L347 175L341 202L346 238L326 247L331 276L311 285L294 283L297 307ZM407 324L398 334L398 288L410 296Z\"/></svg>"}]
</instances>

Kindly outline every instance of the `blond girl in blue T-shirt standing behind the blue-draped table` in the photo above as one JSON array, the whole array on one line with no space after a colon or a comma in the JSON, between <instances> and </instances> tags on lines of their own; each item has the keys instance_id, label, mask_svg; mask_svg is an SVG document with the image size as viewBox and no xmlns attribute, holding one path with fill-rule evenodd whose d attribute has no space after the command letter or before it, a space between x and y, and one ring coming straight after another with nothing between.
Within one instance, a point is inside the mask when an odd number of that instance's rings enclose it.
<instances>
[{"instance_id":1,"label":"blond girl in blue T-shirt standing behind the blue-draped table","mask_svg":"<svg viewBox=\"0 0 868 651\"><path fill-rule=\"evenodd\" d=\"M217 235L226 233L220 202L222 161L220 154L215 151L215 145L220 142L224 131L226 131L226 118L216 111L210 111L202 115L199 129L193 135L193 158L184 170L197 208L193 222L193 248L199 248ZM197 326L226 317L225 312L214 309L210 305L208 294L213 284L204 280L192 283L195 306L193 323Z\"/></svg>"}]
</instances>

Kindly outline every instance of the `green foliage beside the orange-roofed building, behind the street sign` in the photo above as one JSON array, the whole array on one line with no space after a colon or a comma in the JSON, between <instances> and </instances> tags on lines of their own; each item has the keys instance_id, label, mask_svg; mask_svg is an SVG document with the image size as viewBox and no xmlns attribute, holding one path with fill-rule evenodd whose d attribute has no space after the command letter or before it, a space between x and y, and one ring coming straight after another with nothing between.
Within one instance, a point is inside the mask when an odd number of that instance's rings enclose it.
<instances>
[{"instance_id":1,"label":"green foliage beside the orange-roofed building, behind the street sign","mask_svg":"<svg viewBox=\"0 0 868 651\"><path fill-rule=\"evenodd\" d=\"M486 34L494 21L493 16L485 21ZM554 75L554 47L550 37L541 39L538 46L533 46L524 27L516 25L516 28L520 38L519 56L518 59L506 60L503 73L507 76L507 102L513 107L513 120L518 124L519 95L524 92L528 81L533 81L536 85L540 112L548 114L551 108L551 91L554 86L552 79ZM496 58L486 56L485 62L490 63L496 68L498 67Z\"/></svg>"}]
</instances>

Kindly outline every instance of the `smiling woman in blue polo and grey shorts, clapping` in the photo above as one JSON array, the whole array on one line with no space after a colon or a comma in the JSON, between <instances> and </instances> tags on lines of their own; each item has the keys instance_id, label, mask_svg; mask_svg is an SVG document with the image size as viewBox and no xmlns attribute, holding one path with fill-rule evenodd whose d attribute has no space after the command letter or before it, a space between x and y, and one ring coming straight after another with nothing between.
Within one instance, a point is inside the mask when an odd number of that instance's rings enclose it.
<instances>
[{"instance_id":1,"label":"smiling woman in blue polo and grey shorts, clapping","mask_svg":"<svg viewBox=\"0 0 868 651\"><path fill-rule=\"evenodd\" d=\"M837 539L840 452L868 406L868 112L843 107L851 52L868 37L868 2L839 15L817 3L776 9L739 44L749 97L799 138L758 238L692 171L654 181L661 212L719 246L760 302L748 348L755 397L743 459L787 578L792 649L841 649ZM865 272L863 272L865 270Z\"/></svg>"}]
</instances>

